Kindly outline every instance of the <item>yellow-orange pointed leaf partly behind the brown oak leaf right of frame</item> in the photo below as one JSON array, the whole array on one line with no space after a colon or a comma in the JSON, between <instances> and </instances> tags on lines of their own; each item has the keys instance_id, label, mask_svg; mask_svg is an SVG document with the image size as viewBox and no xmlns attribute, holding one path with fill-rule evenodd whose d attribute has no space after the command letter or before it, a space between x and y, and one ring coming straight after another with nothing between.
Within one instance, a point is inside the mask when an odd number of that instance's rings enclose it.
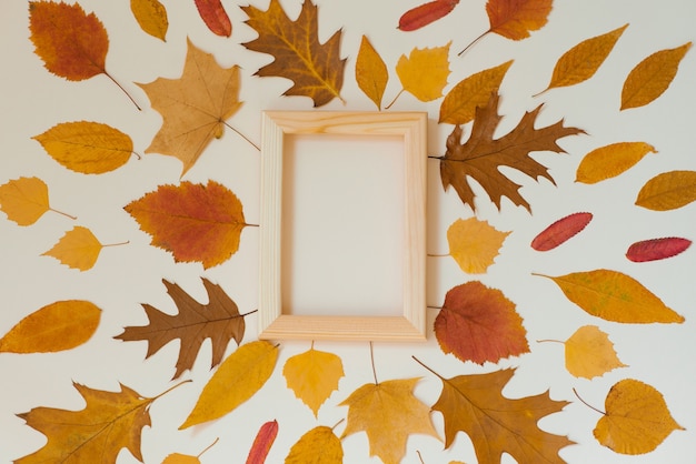
<instances>
[{"instance_id":1,"label":"yellow-orange pointed leaf partly behind the brown oak leaf right of frame","mask_svg":"<svg viewBox=\"0 0 696 464\"><path fill-rule=\"evenodd\" d=\"M477 108L485 108L498 88L513 60L471 74L456 84L443 100L438 122L466 124L474 120Z\"/></svg>"}]
</instances>

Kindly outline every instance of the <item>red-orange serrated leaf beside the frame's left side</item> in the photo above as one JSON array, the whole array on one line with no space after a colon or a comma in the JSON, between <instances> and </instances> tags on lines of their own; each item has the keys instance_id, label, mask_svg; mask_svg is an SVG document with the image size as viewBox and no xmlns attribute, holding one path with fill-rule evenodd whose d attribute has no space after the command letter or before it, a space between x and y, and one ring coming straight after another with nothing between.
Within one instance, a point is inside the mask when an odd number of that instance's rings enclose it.
<instances>
[{"instance_id":1,"label":"red-orange serrated leaf beside the frame's left side","mask_svg":"<svg viewBox=\"0 0 696 464\"><path fill-rule=\"evenodd\" d=\"M176 262L198 261L205 269L235 254L249 225L237 195L211 180L160 185L123 209L152 235L152 245L171 252Z\"/></svg>"}]
</instances>

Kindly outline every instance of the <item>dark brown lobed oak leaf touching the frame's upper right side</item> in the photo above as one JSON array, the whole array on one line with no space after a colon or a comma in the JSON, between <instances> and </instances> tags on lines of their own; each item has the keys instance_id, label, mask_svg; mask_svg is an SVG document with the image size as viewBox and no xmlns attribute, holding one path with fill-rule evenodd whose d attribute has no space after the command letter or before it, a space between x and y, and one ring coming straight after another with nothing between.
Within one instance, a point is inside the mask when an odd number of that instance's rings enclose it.
<instances>
[{"instance_id":1,"label":"dark brown lobed oak leaf touching the frame's upper right side","mask_svg":"<svg viewBox=\"0 0 696 464\"><path fill-rule=\"evenodd\" d=\"M516 205L531 211L529 203L519 193L520 185L503 174L498 168L510 167L535 180L541 176L555 183L548 169L529 157L529 153L535 151L563 153L556 141L585 131L566 128L563 120L553 125L535 129L534 123L541 109L539 105L525 113L513 131L494 139L493 135L501 120L498 114L498 100L499 95L491 93L488 104L476 109L471 135L465 143L461 143L460 125L456 125L447 138L447 151L439 158L443 186L447 190L453 185L461 201L476 211L474 190L467 180L467 176L471 176L484 188L498 210L503 196L507 196Z\"/></svg>"}]
</instances>

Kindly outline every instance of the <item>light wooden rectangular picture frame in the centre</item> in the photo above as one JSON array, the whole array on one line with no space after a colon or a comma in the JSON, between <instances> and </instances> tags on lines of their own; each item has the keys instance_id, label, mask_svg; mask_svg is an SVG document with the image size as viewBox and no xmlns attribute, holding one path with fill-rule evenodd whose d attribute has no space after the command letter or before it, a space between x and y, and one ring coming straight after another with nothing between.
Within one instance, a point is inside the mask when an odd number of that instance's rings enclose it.
<instances>
[{"instance_id":1,"label":"light wooden rectangular picture frame in the centre","mask_svg":"<svg viewBox=\"0 0 696 464\"><path fill-rule=\"evenodd\" d=\"M265 111L261 131L259 339L425 341L427 113ZM280 261L286 134L402 137L402 315L284 314Z\"/></svg>"}]
</instances>

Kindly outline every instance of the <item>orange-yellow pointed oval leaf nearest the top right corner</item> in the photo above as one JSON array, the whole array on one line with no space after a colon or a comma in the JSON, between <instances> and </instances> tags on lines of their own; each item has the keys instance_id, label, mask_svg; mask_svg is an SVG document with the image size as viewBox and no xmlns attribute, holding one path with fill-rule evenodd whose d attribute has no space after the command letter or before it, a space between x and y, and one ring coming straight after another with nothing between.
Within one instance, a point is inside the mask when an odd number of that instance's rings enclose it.
<instances>
[{"instance_id":1,"label":"orange-yellow pointed oval leaf nearest the top right corner","mask_svg":"<svg viewBox=\"0 0 696 464\"><path fill-rule=\"evenodd\" d=\"M622 110L643 107L662 95L677 75L679 62L692 48L660 50L640 61L628 74L622 90Z\"/></svg>"}]
</instances>

